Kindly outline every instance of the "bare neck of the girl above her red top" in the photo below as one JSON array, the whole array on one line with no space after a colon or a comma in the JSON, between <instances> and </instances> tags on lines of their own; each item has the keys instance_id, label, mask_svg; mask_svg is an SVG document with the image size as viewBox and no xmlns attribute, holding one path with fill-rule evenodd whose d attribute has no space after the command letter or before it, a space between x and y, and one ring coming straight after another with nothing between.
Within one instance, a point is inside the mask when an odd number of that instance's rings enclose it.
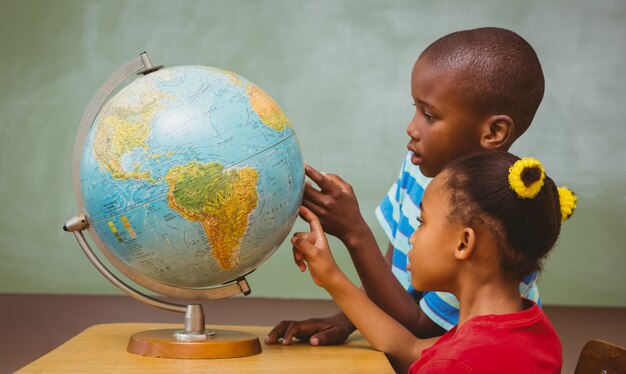
<instances>
[{"instance_id":1,"label":"bare neck of the girl above her red top","mask_svg":"<svg viewBox=\"0 0 626 374\"><path fill-rule=\"evenodd\" d=\"M460 290L459 323L487 314L510 314L524 310L519 281L494 280Z\"/></svg>"}]
</instances>

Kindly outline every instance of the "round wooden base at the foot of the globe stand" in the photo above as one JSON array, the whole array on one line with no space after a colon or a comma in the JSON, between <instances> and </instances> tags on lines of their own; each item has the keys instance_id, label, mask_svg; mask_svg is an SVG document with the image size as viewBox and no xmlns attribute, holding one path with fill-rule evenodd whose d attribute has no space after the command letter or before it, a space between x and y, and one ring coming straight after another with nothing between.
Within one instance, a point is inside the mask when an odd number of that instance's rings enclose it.
<instances>
[{"instance_id":1,"label":"round wooden base at the foot of the globe stand","mask_svg":"<svg viewBox=\"0 0 626 374\"><path fill-rule=\"evenodd\" d=\"M149 357L162 358L232 358L261 353L256 335L232 330L215 331L203 341L178 341L174 336L180 329L148 330L133 334L126 350Z\"/></svg>"}]
</instances>

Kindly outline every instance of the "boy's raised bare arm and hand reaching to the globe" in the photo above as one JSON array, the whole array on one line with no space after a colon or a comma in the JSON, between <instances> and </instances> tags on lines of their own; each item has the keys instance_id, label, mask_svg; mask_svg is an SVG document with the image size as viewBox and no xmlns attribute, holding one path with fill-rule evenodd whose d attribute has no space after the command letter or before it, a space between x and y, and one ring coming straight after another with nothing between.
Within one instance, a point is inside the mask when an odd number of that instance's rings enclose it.
<instances>
[{"instance_id":1,"label":"boy's raised bare arm and hand reaching to the globe","mask_svg":"<svg viewBox=\"0 0 626 374\"><path fill-rule=\"evenodd\" d=\"M302 205L319 217L326 232L346 245L369 298L415 336L442 335L445 330L422 312L390 271L393 246L389 245L383 257L352 187L340 177L322 174L309 165L305 171L320 190L307 184Z\"/></svg>"}]
</instances>

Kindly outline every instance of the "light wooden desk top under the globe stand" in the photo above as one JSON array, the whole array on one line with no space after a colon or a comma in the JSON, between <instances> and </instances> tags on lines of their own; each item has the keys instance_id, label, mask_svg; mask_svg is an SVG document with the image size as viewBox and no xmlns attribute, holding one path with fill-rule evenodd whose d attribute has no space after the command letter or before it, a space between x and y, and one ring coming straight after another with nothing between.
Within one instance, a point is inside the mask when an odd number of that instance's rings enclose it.
<instances>
[{"instance_id":1,"label":"light wooden desk top under the globe stand","mask_svg":"<svg viewBox=\"0 0 626 374\"><path fill-rule=\"evenodd\" d=\"M151 358L126 352L128 339L135 332L179 327L154 323L95 325L18 373L393 373L385 355L372 349L358 333L339 346L311 347L299 342L285 347L263 343L271 327L207 326L256 334L263 352L250 357L212 360Z\"/></svg>"}]
</instances>

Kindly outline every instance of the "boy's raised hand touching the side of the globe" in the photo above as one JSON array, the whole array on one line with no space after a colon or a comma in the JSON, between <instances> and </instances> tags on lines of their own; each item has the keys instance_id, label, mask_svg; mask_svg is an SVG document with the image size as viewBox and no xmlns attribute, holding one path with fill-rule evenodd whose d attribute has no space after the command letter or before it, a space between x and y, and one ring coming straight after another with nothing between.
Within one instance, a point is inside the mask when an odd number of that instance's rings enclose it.
<instances>
[{"instance_id":1,"label":"boy's raised hand touching the side of the globe","mask_svg":"<svg viewBox=\"0 0 626 374\"><path fill-rule=\"evenodd\" d=\"M307 182L302 205L319 217L324 231L349 246L363 229L368 229L352 186L339 176L320 173L308 164L304 171L320 190Z\"/></svg>"}]
</instances>

